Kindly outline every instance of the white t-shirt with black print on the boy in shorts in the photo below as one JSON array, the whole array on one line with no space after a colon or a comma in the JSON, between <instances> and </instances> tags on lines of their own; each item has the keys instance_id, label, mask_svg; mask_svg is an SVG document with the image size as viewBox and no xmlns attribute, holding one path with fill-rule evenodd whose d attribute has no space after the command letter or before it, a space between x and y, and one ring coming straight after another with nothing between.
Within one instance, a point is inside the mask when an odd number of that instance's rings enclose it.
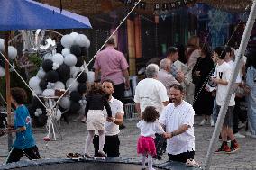
<instances>
[{"instance_id":1,"label":"white t-shirt with black print on the boy in shorts","mask_svg":"<svg viewBox=\"0 0 256 170\"><path fill-rule=\"evenodd\" d=\"M217 66L215 68L215 74L216 74L215 76L217 78L229 82L231 80L231 76L232 76L232 68L226 62L224 62L222 65L217 64ZM219 106L224 105L224 97L225 97L227 91L228 91L228 85L221 85L221 84L217 85L217 92L216 92L217 105L219 105ZM235 94L232 93L229 106L235 105L234 96L235 96Z\"/></svg>"}]
</instances>

